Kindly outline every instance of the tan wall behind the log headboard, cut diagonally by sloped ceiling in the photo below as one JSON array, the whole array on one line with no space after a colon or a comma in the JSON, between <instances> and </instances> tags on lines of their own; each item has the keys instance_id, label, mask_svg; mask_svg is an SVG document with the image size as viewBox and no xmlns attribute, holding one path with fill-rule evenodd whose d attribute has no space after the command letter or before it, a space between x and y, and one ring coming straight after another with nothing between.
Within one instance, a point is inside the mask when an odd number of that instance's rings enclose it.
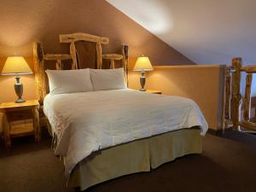
<instances>
[{"instance_id":1,"label":"tan wall behind the log headboard, cut diagonally by sloped ceiling","mask_svg":"<svg viewBox=\"0 0 256 192\"><path fill-rule=\"evenodd\" d=\"M104 0L9 0L0 6L0 69L4 56L32 55L32 42L41 41L45 53L68 53L59 34L87 32L110 39L104 52L115 53L129 44L131 61L148 55L153 65L193 64ZM12 101L14 77L0 76L0 102ZM24 97L34 97L32 76L22 78Z\"/></svg>"}]
</instances>

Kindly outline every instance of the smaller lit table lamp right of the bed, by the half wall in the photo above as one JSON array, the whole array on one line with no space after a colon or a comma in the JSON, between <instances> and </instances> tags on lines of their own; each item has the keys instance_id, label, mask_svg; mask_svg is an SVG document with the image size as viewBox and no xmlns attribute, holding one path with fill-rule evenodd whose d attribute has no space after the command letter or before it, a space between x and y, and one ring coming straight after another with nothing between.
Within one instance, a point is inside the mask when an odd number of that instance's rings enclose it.
<instances>
[{"instance_id":1,"label":"smaller lit table lamp right of the bed, by the half wall","mask_svg":"<svg viewBox=\"0 0 256 192\"><path fill-rule=\"evenodd\" d=\"M149 61L148 56L140 56L137 58L136 64L133 68L133 71L142 73L142 76L140 78L140 83L142 88L140 90L145 91L145 84L146 84L146 77L145 73L148 71L153 71L153 67L151 65L151 62Z\"/></svg>"}]
</instances>

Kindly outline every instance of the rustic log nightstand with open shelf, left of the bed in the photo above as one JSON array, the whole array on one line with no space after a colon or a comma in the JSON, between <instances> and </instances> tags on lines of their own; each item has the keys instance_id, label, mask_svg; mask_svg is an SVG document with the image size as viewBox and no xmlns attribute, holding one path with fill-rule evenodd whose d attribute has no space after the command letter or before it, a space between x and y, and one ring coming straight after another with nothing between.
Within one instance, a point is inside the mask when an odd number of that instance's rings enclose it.
<instances>
[{"instance_id":1,"label":"rustic log nightstand with open shelf, left of the bed","mask_svg":"<svg viewBox=\"0 0 256 192\"><path fill-rule=\"evenodd\" d=\"M3 113L3 139L5 146L11 146L12 137L34 135L35 141L41 140L39 126L39 103L29 100L22 103L3 102L0 113Z\"/></svg>"}]
</instances>

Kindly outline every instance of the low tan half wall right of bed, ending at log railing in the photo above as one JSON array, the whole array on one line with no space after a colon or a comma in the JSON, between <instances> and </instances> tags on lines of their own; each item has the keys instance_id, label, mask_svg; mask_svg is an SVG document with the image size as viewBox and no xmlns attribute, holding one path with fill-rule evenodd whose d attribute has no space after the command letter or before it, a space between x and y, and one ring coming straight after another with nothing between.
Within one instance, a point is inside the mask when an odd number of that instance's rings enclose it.
<instances>
[{"instance_id":1,"label":"low tan half wall right of bed, ending at log railing","mask_svg":"<svg viewBox=\"0 0 256 192\"><path fill-rule=\"evenodd\" d=\"M140 73L131 72L129 87L138 89ZM161 90L165 95L193 99L204 113L209 127L221 128L224 66L154 67L147 73L148 89Z\"/></svg>"}]
</instances>

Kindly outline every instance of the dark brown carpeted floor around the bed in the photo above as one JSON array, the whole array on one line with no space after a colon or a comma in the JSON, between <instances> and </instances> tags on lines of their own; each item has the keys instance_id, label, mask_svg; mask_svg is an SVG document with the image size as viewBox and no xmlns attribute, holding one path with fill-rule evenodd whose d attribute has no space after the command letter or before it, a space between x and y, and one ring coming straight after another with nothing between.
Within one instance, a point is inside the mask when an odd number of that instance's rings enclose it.
<instances>
[{"instance_id":1,"label":"dark brown carpeted floor around the bed","mask_svg":"<svg viewBox=\"0 0 256 192\"><path fill-rule=\"evenodd\" d=\"M12 148L0 147L1 192L67 192L61 162L44 134L17 138ZM228 131L207 135L204 152L188 155L152 172L119 177L86 192L255 192L256 137Z\"/></svg>"}]
</instances>

